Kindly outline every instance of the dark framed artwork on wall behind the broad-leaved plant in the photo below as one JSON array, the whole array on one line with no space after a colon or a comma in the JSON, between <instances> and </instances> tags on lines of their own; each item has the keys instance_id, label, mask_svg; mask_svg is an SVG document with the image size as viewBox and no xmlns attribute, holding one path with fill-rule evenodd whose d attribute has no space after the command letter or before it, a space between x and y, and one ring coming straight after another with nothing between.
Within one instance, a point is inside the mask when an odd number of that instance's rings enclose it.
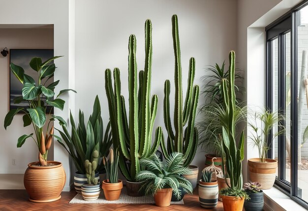
<instances>
[{"instance_id":1,"label":"dark framed artwork on wall behind the broad-leaved plant","mask_svg":"<svg viewBox=\"0 0 308 211\"><path fill-rule=\"evenodd\" d=\"M47 59L54 56L53 49L10 49L10 64L14 63L22 67L25 70L25 74L30 75L37 83L38 75L35 70L32 70L29 63L33 57L40 57L42 61L46 61ZM22 96L22 84L15 77L15 75L10 71L10 110L16 109L18 107L24 107L25 109L29 108L29 104L27 101L23 101L20 104L14 104L14 99ZM46 81L47 78L43 79ZM46 83L46 85L54 82L54 77L52 76ZM45 97L45 96L44 96ZM44 105L46 105L46 98L43 99ZM20 111L19 113L23 113ZM51 110L50 106L47 106L46 113L53 113L53 109Z\"/></svg>"}]
</instances>

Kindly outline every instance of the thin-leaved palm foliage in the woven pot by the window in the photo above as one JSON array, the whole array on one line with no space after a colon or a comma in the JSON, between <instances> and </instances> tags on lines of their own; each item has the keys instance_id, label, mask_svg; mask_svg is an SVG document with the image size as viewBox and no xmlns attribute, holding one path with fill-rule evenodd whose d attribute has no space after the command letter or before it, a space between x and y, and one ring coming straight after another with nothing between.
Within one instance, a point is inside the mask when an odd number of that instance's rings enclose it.
<instances>
[{"instance_id":1,"label":"thin-leaved palm foliage in the woven pot by the window","mask_svg":"<svg viewBox=\"0 0 308 211\"><path fill-rule=\"evenodd\" d=\"M254 122L248 122L248 125L252 129L251 136L253 146L257 147L259 152L260 162L265 162L267 152L271 149L270 145L272 141L279 135L284 134L285 127L281 124L284 120L283 115L279 111L271 112L264 108L262 112L255 112ZM272 129L277 126L280 130L271 135Z\"/></svg>"}]
</instances>

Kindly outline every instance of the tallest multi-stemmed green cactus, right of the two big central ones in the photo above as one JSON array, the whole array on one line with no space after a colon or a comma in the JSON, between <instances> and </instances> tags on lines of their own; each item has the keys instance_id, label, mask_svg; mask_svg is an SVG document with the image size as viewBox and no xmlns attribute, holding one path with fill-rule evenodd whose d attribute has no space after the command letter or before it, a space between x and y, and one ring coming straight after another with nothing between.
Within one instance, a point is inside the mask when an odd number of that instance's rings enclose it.
<instances>
[{"instance_id":1,"label":"tallest multi-stemmed green cactus, right of the two big central ones","mask_svg":"<svg viewBox=\"0 0 308 211\"><path fill-rule=\"evenodd\" d=\"M186 159L184 166L188 166L196 153L198 142L198 131L195 127L195 116L199 98L199 86L193 86L195 76L195 59L190 58L188 87L183 109L181 50L177 15L172 16L172 36L175 56L175 134L171 126L170 118L170 81L166 80L164 86L164 123L168 132L167 148L164 141L161 141L160 145L165 158L168 158L172 152L181 152L184 154ZM186 123L188 124L184 131Z\"/></svg>"}]
</instances>

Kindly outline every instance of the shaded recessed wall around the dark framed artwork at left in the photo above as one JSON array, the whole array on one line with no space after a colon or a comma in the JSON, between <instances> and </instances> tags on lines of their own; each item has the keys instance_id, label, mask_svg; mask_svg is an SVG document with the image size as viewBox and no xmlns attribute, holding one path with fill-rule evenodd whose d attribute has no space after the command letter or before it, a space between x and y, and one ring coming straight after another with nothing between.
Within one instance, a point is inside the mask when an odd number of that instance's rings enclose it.
<instances>
[{"instance_id":1,"label":"shaded recessed wall around the dark framed artwork at left","mask_svg":"<svg viewBox=\"0 0 308 211\"><path fill-rule=\"evenodd\" d=\"M54 29L0 29L0 48L10 49L53 49ZM7 57L0 56L0 174L24 174L28 163L37 160L37 147L33 140L27 140L22 148L17 148L17 139L32 133L31 126L23 128L23 115L17 114L12 124L5 131L4 117L9 111L9 86L10 86L10 52ZM30 62L30 61L29 61ZM12 159L16 165L12 165Z\"/></svg>"}]
</instances>

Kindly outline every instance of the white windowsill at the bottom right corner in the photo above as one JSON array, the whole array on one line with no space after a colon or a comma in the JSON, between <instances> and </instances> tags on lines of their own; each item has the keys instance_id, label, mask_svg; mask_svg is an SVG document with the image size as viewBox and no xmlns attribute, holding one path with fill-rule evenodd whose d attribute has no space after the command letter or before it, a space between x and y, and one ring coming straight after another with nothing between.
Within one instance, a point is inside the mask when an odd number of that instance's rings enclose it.
<instances>
[{"instance_id":1,"label":"white windowsill at the bottom right corner","mask_svg":"<svg viewBox=\"0 0 308 211\"><path fill-rule=\"evenodd\" d=\"M305 208L294 202L276 187L263 190L263 192L265 211L306 211Z\"/></svg>"}]
</instances>

